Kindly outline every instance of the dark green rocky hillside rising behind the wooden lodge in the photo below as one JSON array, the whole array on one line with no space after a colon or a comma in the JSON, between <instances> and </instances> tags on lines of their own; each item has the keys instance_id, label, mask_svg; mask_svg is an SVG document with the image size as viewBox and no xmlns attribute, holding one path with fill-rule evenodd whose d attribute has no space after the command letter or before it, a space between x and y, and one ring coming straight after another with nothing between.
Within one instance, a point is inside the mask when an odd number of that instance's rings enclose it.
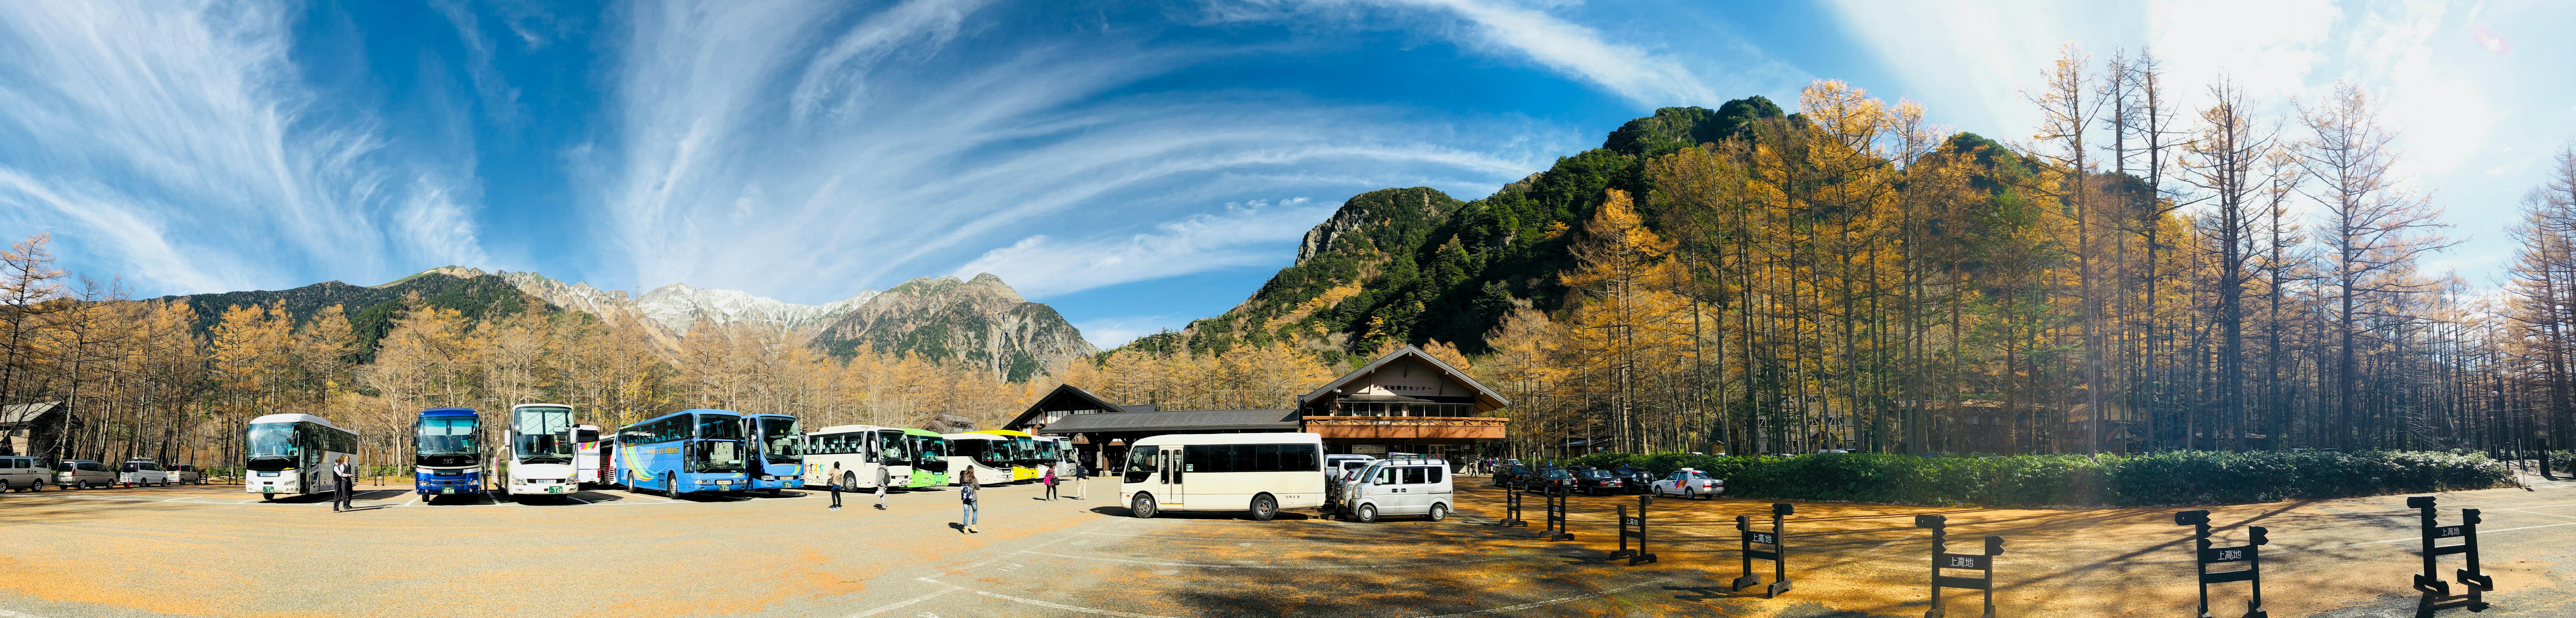
<instances>
[{"instance_id":1,"label":"dark green rocky hillside rising behind the wooden lodge","mask_svg":"<svg viewBox=\"0 0 2576 618\"><path fill-rule=\"evenodd\" d=\"M1600 149L1558 157L1546 173L1479 201L1432 188L1352 196L1306 232L1296 265L1242 306L1141 345L1224 353L1239 342L1288 340L1342 358L1391 340L1443 340L1484 353L1484 332L1515 304L1564 306L1556 273L1574 265L1574 229L1605 191L1643 196L1654 157L1718 142L1759 118L1780 118L1780 106L1757 95L1718 111L1659 108L1610 131Z\"/></svg>"}]
</instances>

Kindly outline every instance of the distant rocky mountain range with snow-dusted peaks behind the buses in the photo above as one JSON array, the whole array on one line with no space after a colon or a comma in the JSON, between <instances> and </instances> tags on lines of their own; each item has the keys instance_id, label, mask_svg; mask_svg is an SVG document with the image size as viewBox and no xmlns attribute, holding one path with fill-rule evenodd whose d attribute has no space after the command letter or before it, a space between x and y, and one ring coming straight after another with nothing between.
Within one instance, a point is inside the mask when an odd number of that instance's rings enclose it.
<instances>
[{"instance_id":1,"label":"distant rocky mountain range with snow-dusted peaks behind the buses","mask_svg":"<svg viewBox=\"0 0 2576 618\"><path fill-rule=\"evenodd\" d=\"M835 355L853 355L868 345L878 353L914 353L938 363L974 363L1012 381L1038 376L1069 358L1100 353L1054 306L1020 299L1010 283L989 273L971 281L914 278L891 291L858 291L829 304L791 304L688 283L634 296L538 273L487 273L464 265L440 265L379 286L325 281L283 291L165 299L193 306L198 332L211 332L229 306L281 306L304 319L337 304L361 337L361 358L371 358L376 340L392 330L412 296L425 306L456 309L469 319L582 312L611 324L639 324L667 358L677 358L680 340L701 322L781 327Z\"/></svg>"}]
</instances>

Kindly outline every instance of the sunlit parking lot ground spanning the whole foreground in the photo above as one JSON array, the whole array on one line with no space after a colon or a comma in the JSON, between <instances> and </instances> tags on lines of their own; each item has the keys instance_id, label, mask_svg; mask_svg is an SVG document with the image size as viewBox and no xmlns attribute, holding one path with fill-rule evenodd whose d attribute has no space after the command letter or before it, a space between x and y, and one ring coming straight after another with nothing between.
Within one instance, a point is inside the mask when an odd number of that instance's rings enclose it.
<instances>
[{"instance_id":1,"label":"sunlit parking lot ground spanning the whole foreground","mask_svg":"<svg viewBox=\"0 0 2576 618\"><path fill-rule=\"evenodd\" d=\"M1927 533L1950 518L1953 551L2004 536L2002 615L2187 615L2190 528L2174 510L1968 510L1798 505L1788 523L1795 590L1731 592L1734 515L1762 500L1659 500L1662 561L1607 559L1613 505L1571 497L1574 541L1492 525L1502 492L1461 479L1445 523L1376 525L1285 512L1128 518L1115 487L1041 502L994 487L984 533L956 530L953 492L909 492L871 510L845 494L683 497L618 489L559 505L415 505L404 487L363 512L322 497L260 502L240 487L0 494L0 615L1922 615ZM2537 479L2535 479L2537 482ZM2568 615L2576 484L2442 494L2442 518L2486 510L2486 615ZM2267 525L2272 615L2411 615L2414 510L2403 497L2213 507L2221 546ZM2458 566L2445 556L2442 574ZM1767 564L1757 572L1770 574ZM2244 585L2213 590L2244 613ZM1947 592L1976 615L1973 590ZM2450 610L2458 613L2458 610Z\"/></svg>"}]
</instances>

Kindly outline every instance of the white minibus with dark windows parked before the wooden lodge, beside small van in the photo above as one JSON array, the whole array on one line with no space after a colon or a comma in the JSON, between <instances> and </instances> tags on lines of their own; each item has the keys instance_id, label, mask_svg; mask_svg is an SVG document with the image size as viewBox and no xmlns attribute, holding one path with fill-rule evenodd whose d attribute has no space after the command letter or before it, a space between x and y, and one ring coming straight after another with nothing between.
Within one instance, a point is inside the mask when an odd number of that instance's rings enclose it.
<instances>
[{"instance_id":1,"label":"white minibus with dark windows parked before the wooden lodge, beside small van","mask_svg":"<svg viewBox=\"0 0 2576 618\"><path fill-rule=\"evenodd\" d=\"M1316 433L1180 433L1128 445L1118 500L1136 518L1162 510L1280 510L1324 505L1324 435Z\"/></svg>"}]
</instances>

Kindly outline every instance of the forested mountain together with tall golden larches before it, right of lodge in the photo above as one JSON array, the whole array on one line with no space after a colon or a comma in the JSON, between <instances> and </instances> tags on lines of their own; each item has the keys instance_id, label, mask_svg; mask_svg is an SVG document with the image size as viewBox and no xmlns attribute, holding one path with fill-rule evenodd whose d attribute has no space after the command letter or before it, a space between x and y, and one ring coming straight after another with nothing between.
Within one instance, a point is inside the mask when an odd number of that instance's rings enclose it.
<instances>
[{"instance_id":1,"label":"forested mountain together with tall golden larches before it, right of lodge","mask_svg":"<svg viewBox=\"0 0 2576 618\"><path fill-rule=\"evenodd\" d=\"M2576 167L2506 301L2357 85L2269 118L2066 49L2022 142L1837 80L1664 108L1481 201L1345 203L1154 345L1455 342L1517 453L2491 448L2576 435Z\"/></svg>"}]
</instances>

